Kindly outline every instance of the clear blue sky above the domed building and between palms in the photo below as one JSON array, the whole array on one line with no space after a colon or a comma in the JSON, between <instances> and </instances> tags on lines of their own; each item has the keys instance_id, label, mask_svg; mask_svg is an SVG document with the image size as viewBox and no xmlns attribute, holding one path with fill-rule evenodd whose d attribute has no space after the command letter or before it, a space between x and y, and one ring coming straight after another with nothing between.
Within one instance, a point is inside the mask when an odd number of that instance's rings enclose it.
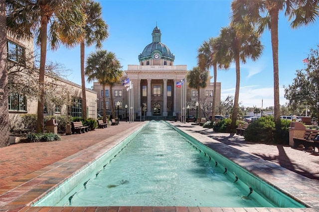
<instances>
[{"instance_id":1,"label":"clear blue sky above the domed building and between palms","mask_svg":"<svg viewBox=\"0 0 319 212\"><path fill-rule=\"evenodd\" d=\"M103 17L109 25L110 36L103 49L112 51L120 60L123 70L128 65L138 65L138 55L152 42L156 24L161 31L161 42L175 55L174 65L187 65L191 70L197 64L197 49L204 40L218 36L221 27L229 24L231 0L99 0ZM261 37L264 51L255 62L241 64L241 106L273 106L273 60L270 32ZM283 86L291 85L296 70L303 69L302 62L310 49L319 44L319 19L315 24L291 29L287 17L279 18L279 84L280 104L285 105ZM95 47L87 47L86 57ZM48 51L48 60L57 61L70 69L68 80L81 85L80 49L60 47ZM212 70L210 70L213 76ZM235 66L217 71L221 82L221 100L235 94ZM91 88L93 83L86 83Z\"/></svg>"}]
</instances>

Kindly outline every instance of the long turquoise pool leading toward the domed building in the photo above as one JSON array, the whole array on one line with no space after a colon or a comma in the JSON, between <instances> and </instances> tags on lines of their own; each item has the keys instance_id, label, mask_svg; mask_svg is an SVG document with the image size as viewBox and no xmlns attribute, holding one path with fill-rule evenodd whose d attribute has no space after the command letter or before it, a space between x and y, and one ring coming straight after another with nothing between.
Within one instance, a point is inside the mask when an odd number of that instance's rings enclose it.
<instances>
[{"instance_id":1,"label":"long turquoise pool leading toward the domed building","mask_svg":"<svg viewBox=\"0 0 319 212\"><path fill-rule=\"evenodd\" d=\"M273 197L259 195L260 185ZM34 206L303 207L267 185L170 124L151 121Z\"/></svg>"}]
</instances>

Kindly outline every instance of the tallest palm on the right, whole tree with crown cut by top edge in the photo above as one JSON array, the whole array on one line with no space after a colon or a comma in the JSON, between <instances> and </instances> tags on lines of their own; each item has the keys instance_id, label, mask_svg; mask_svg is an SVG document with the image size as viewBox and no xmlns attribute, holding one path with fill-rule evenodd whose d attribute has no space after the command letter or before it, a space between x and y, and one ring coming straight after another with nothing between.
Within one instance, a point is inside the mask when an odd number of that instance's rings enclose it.
<instances>
[{"instance_id":1,"label":"tallest palm on the right, whole tree with crown cut by top edge","mask_svg":"<svg viewBox=\"0 0 319 212\"><path fill-rule=\"evenodd\" d=\"M285 8L292 28L308 25L319 17L319 0L234 0L231 3L232 23L246 25L247 21L258 25L261 34L270 29L274 67L274 118L276 128L280 123L279 66L278 66L278 19Z\"/></svg>"}]
</instances>

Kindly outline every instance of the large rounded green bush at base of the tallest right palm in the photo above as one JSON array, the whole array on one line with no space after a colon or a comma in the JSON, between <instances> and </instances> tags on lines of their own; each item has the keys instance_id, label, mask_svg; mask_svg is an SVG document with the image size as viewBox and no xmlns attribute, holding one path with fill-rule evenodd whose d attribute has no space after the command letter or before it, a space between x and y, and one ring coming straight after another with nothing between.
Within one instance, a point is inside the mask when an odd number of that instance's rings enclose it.
<instances>
[{"instance_id":1,"label":"large rounded green bush at base of the tallest right palm","mask_svg":"<svg viewBox=\"0 0 319 212\"><path fill-rule=\"evenodd\" d=\"M275 128L273 116L263 116L250 123L245 130L245 140L256 143L289 144L290 121L281 119L281 128Z\"/></svg>"}]
</instances>

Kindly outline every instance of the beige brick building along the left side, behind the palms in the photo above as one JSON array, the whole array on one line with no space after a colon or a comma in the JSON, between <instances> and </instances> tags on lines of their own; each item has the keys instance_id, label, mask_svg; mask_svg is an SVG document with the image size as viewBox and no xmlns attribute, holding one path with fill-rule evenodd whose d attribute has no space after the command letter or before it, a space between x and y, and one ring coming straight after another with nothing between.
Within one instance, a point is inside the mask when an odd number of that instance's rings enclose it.
<instances>
[{"instance_id":1,"label":"beige brick building along the left side, behind the palms","mask_svg":"<svg viewBox=\"0 0 319 212\"><path fill-rule=\"evenodd\" d=\"M2 1L0 1L2 3ZM1 4L2 5L2 4ZM4 7L1 6L1 11ZM2 17L2 13L1 13ZM38 70L34 67L33 39L17 40L1 30L0 73L0 147L10 144L10 133L23 131L22 116L37 113ZM2 29L2 25L1 25ZM3 33L4 32L4 33ZM79 58L80 59L80 58ZM54 69L54 67L53 67ZM80 73L80 71L79 71ZM44 115L71 115L97 118L97 93L86 89L86 111L82 111L82 87L56 76L45 74ZM32 86L34 88L32 89ZM13 141L14 142L14 141Z\"/></svg>"}]
</instances>

